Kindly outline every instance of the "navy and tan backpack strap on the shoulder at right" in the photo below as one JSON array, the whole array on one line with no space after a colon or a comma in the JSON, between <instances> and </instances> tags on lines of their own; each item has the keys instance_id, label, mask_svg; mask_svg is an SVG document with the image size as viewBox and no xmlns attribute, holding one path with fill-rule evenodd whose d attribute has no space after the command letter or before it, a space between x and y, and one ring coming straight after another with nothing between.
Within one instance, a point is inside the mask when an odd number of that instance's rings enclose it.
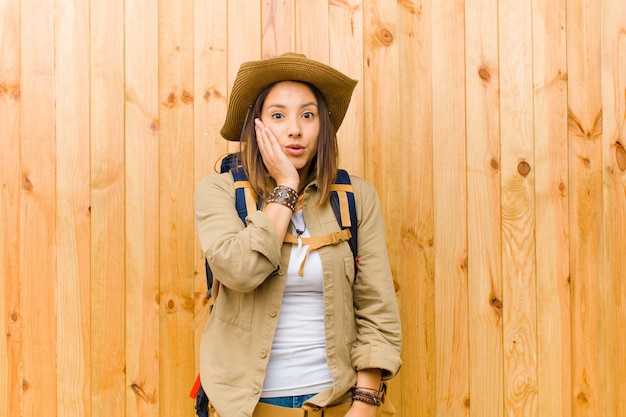
<instances>
[{"instance_id":1,"label":"navy and tan backpack strap on the shoulder at right","mask_svg":"<svg viewBox=\"0 0 626 417\"><path fill-rule=\"evenodd\" d=\"M358 219L356 215L356 202L354 200L354 188L350 181L350 174L343 169L337 170L337 179L331 186L330 204L342 229L350 229L348 244L354 255L354 265L358 267Z\"/></svg>"}]
</instances>

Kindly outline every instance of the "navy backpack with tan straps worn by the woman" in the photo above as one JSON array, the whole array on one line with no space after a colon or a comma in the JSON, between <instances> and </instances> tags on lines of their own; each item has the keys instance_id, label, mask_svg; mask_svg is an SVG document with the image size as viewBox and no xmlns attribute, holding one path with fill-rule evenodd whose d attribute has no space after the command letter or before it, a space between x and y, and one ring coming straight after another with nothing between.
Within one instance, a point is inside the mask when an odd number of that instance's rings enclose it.
<instances>
[{"instance_id":1,"label":"navy backpack with tan straps worn by the woman","mask_svg":"<svg viewBox=\"0 0 626 417\"><path fill-rule=\"evenodd\" d=\"M259 210L261 208L261 201L256 198L256 194L248 180L248 175L241 165L241 154L239 152L228 154L222 159L220 173L226 172L230 172L235 180L235 208L245 226L248 213ZM354 256L354 271L356 273L359 265L356 203L354 199L354 189L350 182L350 175L343 169L337 170L337 178L331 186L330 205L342 232L349 232L344 235L347 236L346 240ZM303 240L304 239L306 238L303 238ZM207 282L206 298L209 299L211 298L211 291L214 284L213 272L211 272L211 268L206 259L204 260L204 266L206 269ZM219 286L219 281L217 281L215 285ZM208 411L206 411L208 407L208 397L200 384L200 375L196 378L196 382L189 395L196 400L196 414L198 417L208 417Z\"/></svg>"}]
</instances>

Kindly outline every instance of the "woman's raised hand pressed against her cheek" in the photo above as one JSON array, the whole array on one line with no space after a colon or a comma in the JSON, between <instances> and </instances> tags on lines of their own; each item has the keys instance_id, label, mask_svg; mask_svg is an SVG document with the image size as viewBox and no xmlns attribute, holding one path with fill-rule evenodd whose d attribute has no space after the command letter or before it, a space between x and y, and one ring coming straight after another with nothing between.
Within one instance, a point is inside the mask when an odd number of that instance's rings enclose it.
<instances>
[{"instance_id":1,"label":"woman's raised hand pressed against her cheek","mask_svg":"<svg viewBox=\"0 0 626 417\"><path fill-rule=\"evenodd\" d=\"M296 167L287 158L278 139L261 119L255 119L254 124L257 144L267 171L277 185L284 185L297 191L300 185L300 175Z\"/></svg>"}]
</instances>

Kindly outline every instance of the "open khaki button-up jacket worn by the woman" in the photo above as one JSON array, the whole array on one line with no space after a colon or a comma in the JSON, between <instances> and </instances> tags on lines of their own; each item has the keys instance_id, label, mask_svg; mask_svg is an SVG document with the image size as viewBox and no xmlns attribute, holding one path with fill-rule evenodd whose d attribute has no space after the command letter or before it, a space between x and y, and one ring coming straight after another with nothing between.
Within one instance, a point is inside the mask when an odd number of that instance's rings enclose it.
<instances>
[{"instance_id":1,"label":"open khaki button-up jacket worn by the woman","mask_svg":"<svg viewBox=\"0 0 626 417\"><path fill-rule=\"evenodd\" d=\"M365 180L351 176L351 181L359 219L356 278L347 242L318 250L333 387L309 400L317 406L348 400L357 370L381 368L383 379L389 379L402 363L400 318L378 196ZM303 200L311 236L339 230L331 205L318 207L316 193L316 185L309 185ZM249 417L263 387L291 244L278 243L274 225L262 211L249 214L244 228L230 173L201 181L195 212L200 243L221 283L202 336L202 386L220 416Z\"/></svg>"}]
</instances>

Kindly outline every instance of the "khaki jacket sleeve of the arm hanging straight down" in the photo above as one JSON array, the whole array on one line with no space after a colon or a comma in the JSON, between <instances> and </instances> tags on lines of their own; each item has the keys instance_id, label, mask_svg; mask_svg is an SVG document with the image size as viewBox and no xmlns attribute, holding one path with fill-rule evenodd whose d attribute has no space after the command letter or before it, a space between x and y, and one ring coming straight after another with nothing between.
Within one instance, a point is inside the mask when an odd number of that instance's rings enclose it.
<instances>
[{"instance_id":1,"label":"khaki jacket sleeve of the arm hanging straight down","mask_svg":"<svg viewBox=\"0 0 626 417\"><path fill-rule=\"evenodd\" d=\"M356 341L352 361L356 370L380 368L383 379L400 370L402 331L384 221L376 190L354 177L357 202L359 268L353 297Z\"/></svg>"}]
</instances>

